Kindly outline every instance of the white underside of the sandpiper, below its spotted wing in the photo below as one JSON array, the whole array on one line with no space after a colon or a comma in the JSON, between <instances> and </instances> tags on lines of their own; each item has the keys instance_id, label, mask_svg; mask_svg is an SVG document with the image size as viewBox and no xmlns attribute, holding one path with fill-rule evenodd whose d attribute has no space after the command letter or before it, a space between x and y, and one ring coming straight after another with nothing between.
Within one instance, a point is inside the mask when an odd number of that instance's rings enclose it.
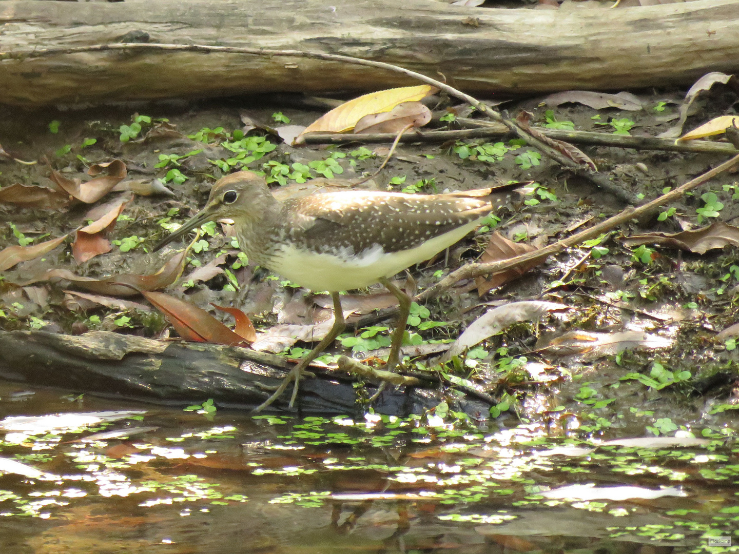
<instances>
[{"instance_id":1,"label":"white underside of the sandpiper, below its spotted wing","mask_svg":"<svg viewBox=\"0 0 739 554\"><path fill-rule=\"evenodd\" d=\"M479 220L470 222L410 250L392 253L384 252L379 245L364 251L361 256L308 252L292 244L285 245L270 260L269 268L293 283L314 291L336 292L368 287L382 277L392 277L406 267L431 258L462 239L479 224Z\"/></svg>"}]
</instances>

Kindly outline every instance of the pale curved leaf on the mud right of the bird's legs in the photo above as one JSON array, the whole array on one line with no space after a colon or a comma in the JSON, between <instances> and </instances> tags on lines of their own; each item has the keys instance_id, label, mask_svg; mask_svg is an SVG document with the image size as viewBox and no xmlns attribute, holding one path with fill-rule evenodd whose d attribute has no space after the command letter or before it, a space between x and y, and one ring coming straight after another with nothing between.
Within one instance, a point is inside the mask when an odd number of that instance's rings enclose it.
<instances>
[{"instance_id":1,"label":"pale curved leaf on the mud right of the bird's legs","mask_svg":"<svg viewBox=\"0 0 739 554\"><path fill-rule=\"evenodd\" d=\"M503 306L488 310L475 321L452 343L449 352L444 355L444 360L449 360L464 352L466 349L481 343L486 338L496 335L507 327L520 321L534 321L548 312L569 310L567 306L554 302L523 301L511 302Z\"/></svg>"}]
</instances>

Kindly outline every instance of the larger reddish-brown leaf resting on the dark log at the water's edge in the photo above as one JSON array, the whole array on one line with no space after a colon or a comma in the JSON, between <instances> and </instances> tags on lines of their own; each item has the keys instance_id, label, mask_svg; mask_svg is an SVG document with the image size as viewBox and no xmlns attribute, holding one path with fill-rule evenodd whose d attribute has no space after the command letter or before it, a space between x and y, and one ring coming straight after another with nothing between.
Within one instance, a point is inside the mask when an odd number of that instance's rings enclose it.
<instances>
[{"instance_id":1,"label":"larger reddish-brown leaf resting on the dark log at the water's edge","mask_svg":"<svg viewBox=\"0 0 739 554\"><path fill-rule=\"evenodd\" d=\"M174 298L164 293L151 293L142 290L141 294L151 302L157 310L164 314L180 337L186 341L227 344L235 346L245 343L244 338L236 335L212 315L202 308Z\"/></svg>"}]
</instances>

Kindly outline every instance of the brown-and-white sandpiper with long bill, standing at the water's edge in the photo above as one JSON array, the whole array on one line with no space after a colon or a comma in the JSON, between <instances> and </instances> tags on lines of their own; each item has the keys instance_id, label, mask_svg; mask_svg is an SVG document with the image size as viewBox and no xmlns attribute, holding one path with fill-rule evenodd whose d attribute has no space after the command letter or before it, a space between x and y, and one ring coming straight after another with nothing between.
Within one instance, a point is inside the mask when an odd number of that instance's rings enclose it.
<instances>
[{"instance_id":1,"label":"brown-and-white sandpiper with long bill, standing at the water's edge","mask_svg":"<svg viewBox=\"0 0 739 554\"><path fill-rule=\"evenodd\" d=\"M388 279L462 239L515 186L448 194L341 191L280 202L264 178L239 171L219 179L205 208L154 250L205 222L229 218L239 247L255 264L302 287L331 293L335 315L330 332L256 411L269 406L295 380L292 407L304 369L344 330L339 291L379 282L398 298L400 316L385 367L392 371L400 360L411 298Z\"/></svg>"}]
</instances>

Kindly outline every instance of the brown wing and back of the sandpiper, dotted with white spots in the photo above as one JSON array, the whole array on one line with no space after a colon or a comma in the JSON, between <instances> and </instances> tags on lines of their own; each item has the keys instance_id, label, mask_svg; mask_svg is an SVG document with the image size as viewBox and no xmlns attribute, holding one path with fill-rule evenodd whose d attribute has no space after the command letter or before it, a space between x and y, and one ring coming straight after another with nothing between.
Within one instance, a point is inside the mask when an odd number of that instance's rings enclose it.
<instances>
[{"instance_id":1,"label":"brown wing and back of the sandpiper, dotted with white spots","mask_svg":"<svg viewBox=\"0 0 739 554\"><path fill-rule=\"evenodd\" d=\"M302 247L354 254L376 244L388 253L409 250L493 208L477 197L353 191L291 199L284 209L293 222L288 232Z\"/></svg>"}]
</instances>

